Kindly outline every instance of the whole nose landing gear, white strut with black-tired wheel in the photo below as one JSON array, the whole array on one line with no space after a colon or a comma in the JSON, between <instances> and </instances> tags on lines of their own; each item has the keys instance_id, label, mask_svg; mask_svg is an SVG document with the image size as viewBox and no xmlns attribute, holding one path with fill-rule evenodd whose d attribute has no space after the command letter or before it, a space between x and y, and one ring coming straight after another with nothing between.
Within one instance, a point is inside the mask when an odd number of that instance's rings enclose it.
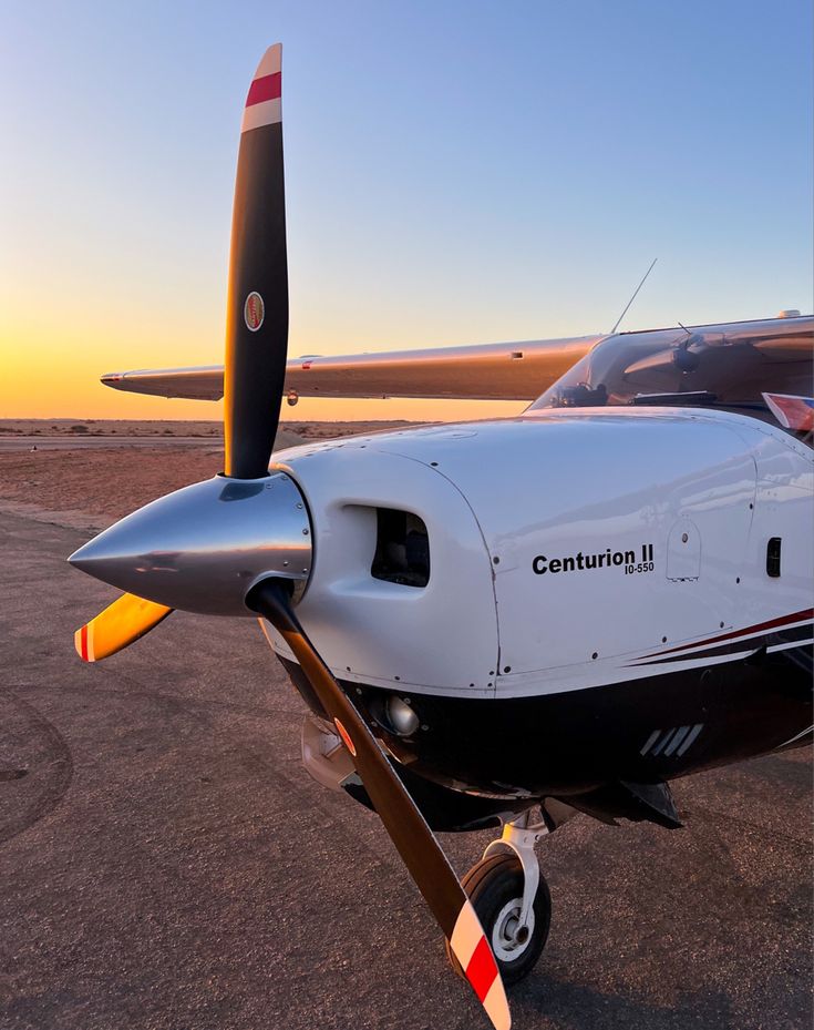
<instances>
[{"instance_id":1,"label":"whole nose landing gear, white strut with black-tired wheel","mask_svg":"<svg viewBox=\"0 0 814 1030\"><path fill-rule=\"evenodd\" d=\"M533 823L530 812L506 823L499 840L490 844L461 880L506 985L528 976L548 938L552 897L534 846L550 833L549 823ZM449 944L446 956L455 972L463 976Z\"/></svg>"}]
</instances>

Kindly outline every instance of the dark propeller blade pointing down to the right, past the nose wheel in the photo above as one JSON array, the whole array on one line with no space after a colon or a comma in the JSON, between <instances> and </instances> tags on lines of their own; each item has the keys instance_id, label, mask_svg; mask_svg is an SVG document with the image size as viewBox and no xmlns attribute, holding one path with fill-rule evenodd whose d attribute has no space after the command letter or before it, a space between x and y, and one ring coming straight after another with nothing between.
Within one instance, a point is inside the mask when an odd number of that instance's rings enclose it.
<instances>
[{"instance_id":1,"label":"dark propeller blade pointing down to the right, past the nose wheel","mask_svg":"<svg viewBox=\"0 0 814 1030\"><path fill-rule=\"evenodd\" d=\"M495 957L466 891L412 797L356 706L333 677L295 614L287 585L267 579L246 603L264 615L297 657L353 758L375 810L410 875L450 941L478 1000L497 1030L512 1017Z\"/></svg>"}]
</instances>

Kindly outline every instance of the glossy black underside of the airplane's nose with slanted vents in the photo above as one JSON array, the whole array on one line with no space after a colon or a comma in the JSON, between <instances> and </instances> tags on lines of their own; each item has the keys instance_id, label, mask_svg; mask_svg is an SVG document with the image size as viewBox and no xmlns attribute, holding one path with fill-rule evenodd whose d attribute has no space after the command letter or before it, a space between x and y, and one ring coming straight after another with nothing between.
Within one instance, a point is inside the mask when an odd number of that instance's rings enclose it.
<instances>
[{"instance_id":1,"label":"glossy black underside of the airplane's nose with slanted vents","mask_svg":"<svg viewBox=\"0 0 814 1030\"><path fill-rule=\"evenodd\" d=\"M317 710L299 666L284 664ZM812 724L811 647L522 698L441 697L340 682L412 772L507 797L674 779L773 751ZM387 726L383 703L392 693L409 697L419 716L421 728L409 738Z\"/></svg>"}]
</instances>

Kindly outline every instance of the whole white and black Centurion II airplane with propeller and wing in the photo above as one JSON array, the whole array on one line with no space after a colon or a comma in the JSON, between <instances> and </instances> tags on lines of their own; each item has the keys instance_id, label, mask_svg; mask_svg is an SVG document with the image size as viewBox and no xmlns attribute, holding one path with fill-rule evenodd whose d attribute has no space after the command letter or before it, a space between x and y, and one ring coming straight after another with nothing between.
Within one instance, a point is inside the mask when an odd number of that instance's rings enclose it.
<instances>
[{"instance_id":1,"label":"whole white and black Centurion II airplane with propeller and wing","mask_svg":"<svg viewBox=\"0 0 814 1030\"><path fill-rule=\"evenodd\" d=\"M763 322L287 364L281 50L244 111L224 472L71 555L125 593L100 661L174 609L259 616L306 768L373 808L496 1028L543 951L535 844L577 813L681 825L670 782L812 738L812 330ZM528 398L518 417L271 448L284 396ZM537 399L535 399L537 398ZM458 881L433 830L503 827Z\"/></svg>"}]
</instances>

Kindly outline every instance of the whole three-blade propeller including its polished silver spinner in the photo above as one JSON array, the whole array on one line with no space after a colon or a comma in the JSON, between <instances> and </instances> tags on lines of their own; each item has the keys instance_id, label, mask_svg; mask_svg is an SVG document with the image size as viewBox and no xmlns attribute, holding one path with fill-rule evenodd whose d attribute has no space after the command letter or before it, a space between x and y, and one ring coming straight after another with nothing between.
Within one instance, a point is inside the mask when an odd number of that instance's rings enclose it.
<instances>
[{"instance_id":1,"label":"whole three-blade propeller including its polished silver spinner","mask_svg":"<svg viewBox=\"0 0 814 1030\"><path fill-rule=\"evenodd\" d=\"M244 111L231 226L224 375L224 473L147 504L69 561L128 591L76 631L97 661L174 608L259 613L297 656L333 720L375 809L498 1030L511 1016L490 944L466 893L381 745L293 610L311 567L311 527L296 483L269 475L286 374L288 273L281 47L266 52ZM90 642L90 643L89 643Z\"/></svg>"}]
</instances>

